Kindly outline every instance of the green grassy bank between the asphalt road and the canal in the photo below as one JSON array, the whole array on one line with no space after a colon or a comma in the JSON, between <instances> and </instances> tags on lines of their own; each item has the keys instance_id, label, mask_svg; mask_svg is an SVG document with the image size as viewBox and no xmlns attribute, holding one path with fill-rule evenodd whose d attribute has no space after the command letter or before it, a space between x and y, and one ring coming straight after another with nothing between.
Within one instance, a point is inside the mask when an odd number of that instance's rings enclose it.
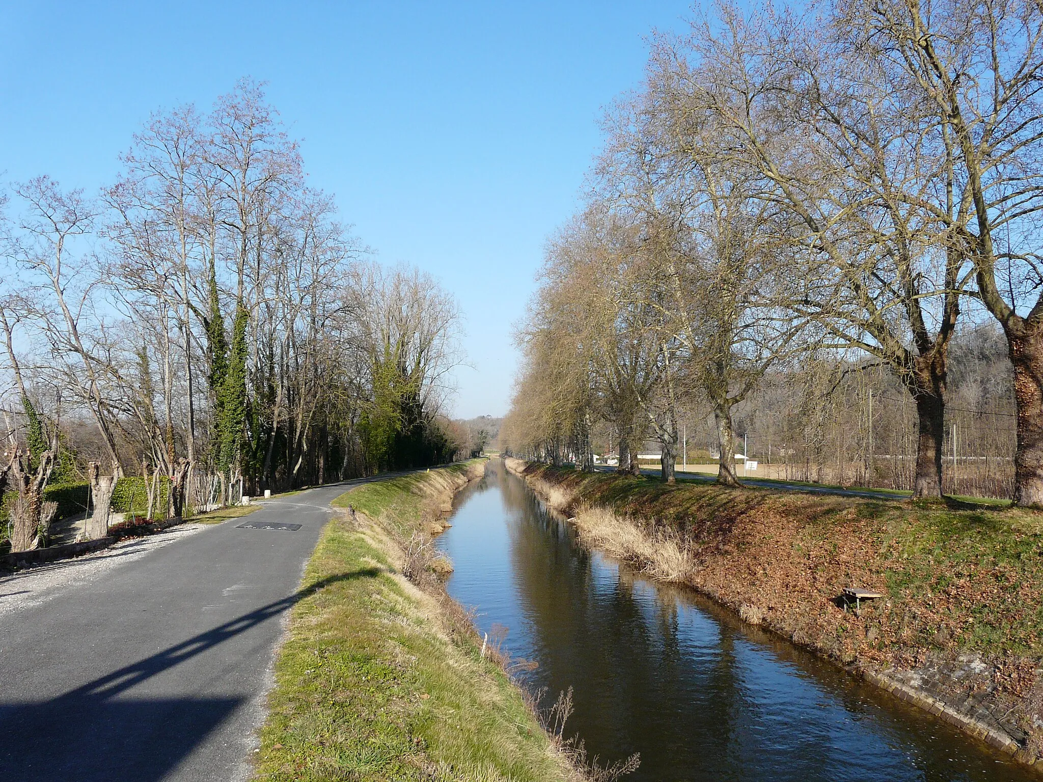
<instances>
[{"instance_id":1,"label":"green grassy bank between the asphalt road and the canal","mask_svg":"<svg viewBox=\"0 0 1043 782\"><path fill-rule=\"evenodd\" d=\"M565 780L522 693L430 570L401 573L475 465L340 497L275 662L258 780ZM422 542L418 542L422 541ZM410 543L412 542L412 545Z\"/></svg>"}]
</instances>

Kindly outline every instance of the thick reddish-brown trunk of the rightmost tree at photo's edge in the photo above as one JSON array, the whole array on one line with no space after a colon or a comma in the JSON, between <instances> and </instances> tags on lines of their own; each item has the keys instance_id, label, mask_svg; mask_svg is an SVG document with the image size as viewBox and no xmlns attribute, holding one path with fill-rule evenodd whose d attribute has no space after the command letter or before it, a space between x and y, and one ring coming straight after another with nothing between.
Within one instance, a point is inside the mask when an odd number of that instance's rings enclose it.
<instances>
[{"instance_id":1,"label":"thick reddish-brown trunk of the rightmost tree at photo's edge","mask_svg":"<svg viewBox=\"0 0 1043 782\"><path fill-rule=\"evenodd\" d=\"M1014 457L1014 502L1043 506L1043 324L1006 334L1014 364L1018 450Z\"/></svg>"}]
</instances>

